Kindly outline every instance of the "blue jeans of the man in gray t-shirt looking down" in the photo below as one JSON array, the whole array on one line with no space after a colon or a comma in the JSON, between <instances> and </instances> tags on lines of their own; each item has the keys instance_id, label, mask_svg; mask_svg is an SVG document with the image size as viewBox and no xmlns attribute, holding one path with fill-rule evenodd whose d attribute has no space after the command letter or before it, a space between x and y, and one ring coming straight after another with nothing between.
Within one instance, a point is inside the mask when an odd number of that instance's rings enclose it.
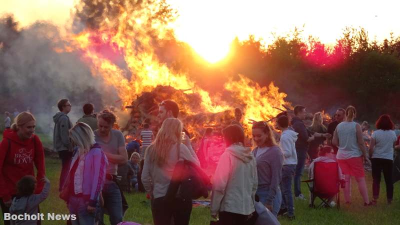
<instances>
[{"instance_id":1,"label":"blue jeans of the man in gray t-shirt looking down","mask_svg":"<svg viewBox=\"0 0 400 225\"><path fill-rule=\"evenodd\" d=\"M108 212L110 224L115 225L122 222L122 197L118 185L112 180L105 180L102 194L104 209Z\"/></svg>"}]
</instances>

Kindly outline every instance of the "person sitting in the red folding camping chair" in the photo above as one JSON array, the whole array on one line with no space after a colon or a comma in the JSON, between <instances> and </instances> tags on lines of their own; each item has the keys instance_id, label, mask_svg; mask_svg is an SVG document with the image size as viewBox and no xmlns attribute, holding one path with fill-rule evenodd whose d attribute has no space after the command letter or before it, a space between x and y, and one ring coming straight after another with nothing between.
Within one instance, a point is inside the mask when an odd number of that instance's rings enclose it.
<instances>
[{"instance_id":1,"label":"person sitting in the red folding camping chair","mask_svg":"<svg viewBox=\"0 0 400 225\"><path fill-rule=\"evenodd\" d=\"M329 145L319 145L318 147L318 157L316 157L314 160L312 160L311 164L309 165L308 168L308 178L313 179L314 178L314 164L315 162L336 162L332 157L334 157L334 149L332 146ZM338 169L338 179L341 180L343 179L343 175L341 173L341 169L339 166L337 166ZM310 188L313 186L313 182L309 182ZM311 196L311 191L310 191L310 196ZM312 199L309 199L309 203L311 204ZM328 202L332 202L329 200ZM332 203L331 203L332 204Z\"/></svg>"}]
</instances>

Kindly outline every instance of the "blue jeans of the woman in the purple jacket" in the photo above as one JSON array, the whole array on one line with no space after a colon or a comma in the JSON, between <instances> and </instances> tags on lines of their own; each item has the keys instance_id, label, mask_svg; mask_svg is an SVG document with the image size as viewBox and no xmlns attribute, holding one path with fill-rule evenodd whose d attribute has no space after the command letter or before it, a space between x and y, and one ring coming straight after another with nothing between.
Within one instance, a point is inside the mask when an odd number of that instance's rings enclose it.
<instances>
[{"instance_id":1,"label":"blue jeans of the woman in the purple jacket","mask_svg":"<svg viewBox=\"0 0 400 225\"><path fill-rule=\"evenodd\" d=\"M69 196L69 212L76 215L76 220L70 220L72 225L94 225L96 212L87 211L88 203L89 201L84 200L83 197ZM97 207L96 210L98 210Z\"/></svg>"}]
</instances>

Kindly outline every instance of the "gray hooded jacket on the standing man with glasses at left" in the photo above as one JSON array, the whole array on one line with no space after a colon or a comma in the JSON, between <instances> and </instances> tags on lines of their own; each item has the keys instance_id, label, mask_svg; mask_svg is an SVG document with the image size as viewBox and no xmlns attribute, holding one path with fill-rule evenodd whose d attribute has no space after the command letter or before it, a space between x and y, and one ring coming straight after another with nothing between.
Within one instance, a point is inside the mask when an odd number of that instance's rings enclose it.
<instances>
[{"instance_id":1,"label":"gray hooded jacket on the standing man with glasses at left","mask_svg":"<svg viewBox=\"0 0 400 225\"><path fill-rule=\"evenodd\" d=\"M53 150L71 150L72 143L69 139L69 129L72 128L72 123L69 117L63 112L57 112L53 115L54 133L53 133Z\"/></svg>"}]
</instances>

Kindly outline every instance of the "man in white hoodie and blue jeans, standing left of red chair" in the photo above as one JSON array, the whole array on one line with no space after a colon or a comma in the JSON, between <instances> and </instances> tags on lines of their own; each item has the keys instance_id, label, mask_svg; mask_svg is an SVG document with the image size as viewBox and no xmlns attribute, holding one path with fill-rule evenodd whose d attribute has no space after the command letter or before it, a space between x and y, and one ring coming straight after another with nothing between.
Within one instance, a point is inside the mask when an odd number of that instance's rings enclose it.
<instances>
[{"instance_id":1,"label":"man in white hoodie and blue jeans, standing left of red chair","mask_svg":"<svg viewBox=\"0 0 400 225\"><path fill-rule=\"evenodd\" d=\"M297 134L288 129L289 119L285 115L277 118L278 129L282 131L279 140L279 146L284 155L282 166L282 179L280 181L280 190L282 192L282 203L280 205L280 214L287 212L289 219L294 219L293 195L291 194L291 182L296 170L297 154L294 143L297 140Z\"/></svg>"}]
</instances>

